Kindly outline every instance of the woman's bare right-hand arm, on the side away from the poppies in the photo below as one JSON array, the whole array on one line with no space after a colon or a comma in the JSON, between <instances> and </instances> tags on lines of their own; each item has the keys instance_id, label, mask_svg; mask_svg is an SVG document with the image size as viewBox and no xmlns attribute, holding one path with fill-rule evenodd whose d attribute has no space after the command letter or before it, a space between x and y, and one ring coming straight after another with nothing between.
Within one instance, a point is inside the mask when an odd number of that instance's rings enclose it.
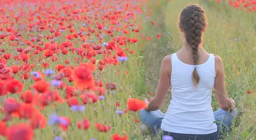
<instances>
[{"instance_id":1,"label":"woman's bare right-hand arm, on the side away from the poppies","mask_svg":"<svg viewBox=\"0 0 256 140\"><path fill-rule=\"evenodd\" d=\"M231 100L227 97L226 89L225 89L225 81L224 81L224 67L222 59L215 55L215 70L216 70L216 77L215 77L215 94L219 103L220 108L225 111L232 110L232 103Z\"/></svg>"}]
</instances>

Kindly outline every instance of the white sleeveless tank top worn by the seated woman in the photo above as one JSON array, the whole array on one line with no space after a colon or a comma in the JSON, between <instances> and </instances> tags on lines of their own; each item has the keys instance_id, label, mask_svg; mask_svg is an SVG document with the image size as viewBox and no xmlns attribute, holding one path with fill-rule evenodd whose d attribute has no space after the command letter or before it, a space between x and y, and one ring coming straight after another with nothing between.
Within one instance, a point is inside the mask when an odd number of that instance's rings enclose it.
<instances>
[{"instance_id":1,"label":"white sleeveless tank top worn by the seated woman","mask_svg":"<svg viewBox=\"0 0 256 140\"><path fill-rule=\"evenodd\" d=\"M172 100L161 129L167 132L183 134L209 134L217 131L214 113L211 107L211 93L215 82L215 57L197 65L200 76L198 87L193 87L191 74L194 65L181 62L177 54L172 54Z\"/></svg>"}]
</instances>

